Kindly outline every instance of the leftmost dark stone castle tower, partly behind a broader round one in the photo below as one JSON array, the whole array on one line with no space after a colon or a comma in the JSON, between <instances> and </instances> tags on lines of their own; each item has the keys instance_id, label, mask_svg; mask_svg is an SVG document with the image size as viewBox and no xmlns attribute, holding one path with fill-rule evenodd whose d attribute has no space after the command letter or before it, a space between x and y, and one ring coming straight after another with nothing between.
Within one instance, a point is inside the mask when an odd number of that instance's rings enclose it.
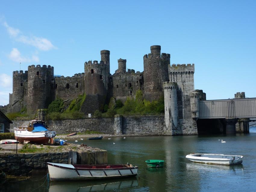
<instances>
[{"instance_id":1,"label":"leftmost dark stone castle tower, partly behind a broader round one","mask_svg":"<svg viewBox=\"0 0 256 192\"><path fill-rule=\"evenodd\" d=\"M12 101L15 102L17 100L21 100L24 97L24 93L27 92L27 86L25 88L25 85L27 84L28 80L28 72L25 71L14 71L13 72L13 78L12 78Z\"/></svg>"}]
</instances>

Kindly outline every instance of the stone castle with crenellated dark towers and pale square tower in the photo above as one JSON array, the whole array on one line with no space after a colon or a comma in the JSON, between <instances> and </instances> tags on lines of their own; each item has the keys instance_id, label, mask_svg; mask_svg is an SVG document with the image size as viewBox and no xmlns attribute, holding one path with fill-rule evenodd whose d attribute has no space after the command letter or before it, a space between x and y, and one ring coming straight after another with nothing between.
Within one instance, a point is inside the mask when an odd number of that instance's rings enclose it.
<instances>
[{"instance_id":1,"label":"stone castle with crenellated dark towers and pale square tower","mask_svg":"<svg viewBox=\"0 0 256 192\"><path fill-rule=\"evenodd\" d=\"M54 76L54 67L43 65L28 66L28 70L13 72L13 93L7 112L17 112L24 107L27 113L35 114L37 109L48 108L48 105L61 98L72 100L86 94L81 111L85 114L101 109L111 97L126 101L141 90L146 100L152 101L164 94L166 126L171 122L178 127L183 121L192 120L190 106L191 93L194 91L194 64L170 65L170 54L162 53L161 46L150 47L151 53L143 56L144 71L126 71L126 59L118 59L118 69L110 74L110 51L101 51L101 61L84 63L84 72L72 77ZM206 95L202 90L193 92L200 100ZM192 94L192 95L193 95ZM193 124L195 122L190 122ZM196 127L196 125L195 125ZM179 134L179 133L178 133Z\"/></svg>"}]
</instances>

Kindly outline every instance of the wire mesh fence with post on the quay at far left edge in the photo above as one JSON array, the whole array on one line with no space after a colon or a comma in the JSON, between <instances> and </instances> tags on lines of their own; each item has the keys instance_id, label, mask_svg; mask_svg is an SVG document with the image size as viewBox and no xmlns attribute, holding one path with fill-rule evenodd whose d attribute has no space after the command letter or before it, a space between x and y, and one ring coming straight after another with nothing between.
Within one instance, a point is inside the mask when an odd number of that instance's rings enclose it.
<instances>
[{"instance_id":1,"label":"wire mesh fence with post on the quay at far left edge","mask_svg":"<svg viewBox=\"0 0 256 192\"><path fill-rule=\"evenodd\" d=\"M18 149L21 149L21 145L16 140L1 140L0 141L0 153L17 153Z\"/></svg>"}]
</instances>

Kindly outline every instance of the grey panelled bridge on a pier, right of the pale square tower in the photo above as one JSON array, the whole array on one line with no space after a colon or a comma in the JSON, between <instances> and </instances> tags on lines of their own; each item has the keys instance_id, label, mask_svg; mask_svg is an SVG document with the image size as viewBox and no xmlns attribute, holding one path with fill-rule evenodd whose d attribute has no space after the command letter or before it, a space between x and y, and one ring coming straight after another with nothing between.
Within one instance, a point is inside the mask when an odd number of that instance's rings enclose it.
<instances>
[{"instance_id":1,"label":"grey panelled bridge on a pier, right of the pale square tower","mask_svg":"<svg viewBox=\"0 0 256 192\"><path fill-rule=\"evenodd\" d=\"M256 119L256 98L199 101L198 119L226 119L226 133L235 133L241 118Z\"/></svg>"}]
</instances>

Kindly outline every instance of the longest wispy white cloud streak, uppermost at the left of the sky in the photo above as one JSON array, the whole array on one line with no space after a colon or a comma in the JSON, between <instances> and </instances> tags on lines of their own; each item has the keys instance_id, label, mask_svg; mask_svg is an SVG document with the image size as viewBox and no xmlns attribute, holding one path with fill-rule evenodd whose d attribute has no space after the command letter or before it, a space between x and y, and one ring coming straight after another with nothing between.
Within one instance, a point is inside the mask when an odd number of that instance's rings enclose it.
<instances>
[{"instance_id":1,"label":"longest wispy white cloud streak, uppermost at the left of the sky","mask_svg":"<svg viewBox=\"0 0 256 192\"><path fill-rule=\"evenodd\" d=\"M56 49L52 42L43 37L36 36L25 36L21 33L20 29L15 29L9 26L6 22L3 23L10 37L17 42L22 42L27 45L32 45L41 51L49 51L51 49Z\"/></svg>"}]
</instances>

